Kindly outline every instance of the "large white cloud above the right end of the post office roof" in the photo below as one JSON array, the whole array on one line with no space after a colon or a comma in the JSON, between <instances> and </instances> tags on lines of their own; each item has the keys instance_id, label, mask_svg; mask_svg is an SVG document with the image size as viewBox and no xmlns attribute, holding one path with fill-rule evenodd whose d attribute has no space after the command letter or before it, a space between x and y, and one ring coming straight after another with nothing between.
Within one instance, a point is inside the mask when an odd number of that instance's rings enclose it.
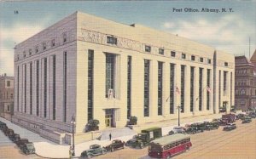
<instances>
[{"instance_id":1,"label":"large white cloud above the right end of the post office roof","mask_svg":"<svg viewBox=\"0 0 256 159\"><path fill-rule=\"evenodd\" d=\"M251 55L256 47L256 39L253 39L255 37L254 27L239 15L229 14L218 20L177 20L175 27L168 24L169 22L166 21L162 28L172 34L211 45L230 54L248 53L249 37L251 37Z\"/></svg>"}]
</instances>

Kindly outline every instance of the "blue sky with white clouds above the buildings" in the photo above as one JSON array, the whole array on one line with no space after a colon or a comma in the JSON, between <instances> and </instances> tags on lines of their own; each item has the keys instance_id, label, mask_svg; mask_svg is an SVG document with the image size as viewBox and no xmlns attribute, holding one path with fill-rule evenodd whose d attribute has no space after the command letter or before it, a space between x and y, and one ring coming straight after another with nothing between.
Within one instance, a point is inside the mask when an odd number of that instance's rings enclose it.
<instances>
[{"instance_id":1,"label":"blue sky with white clouds above the buildings","mask_svg":"<svg viewBox=\"0 0 256 159\"><path fill-rule=\"evenodd\" d=\"M183 12L173 12L173 8ZM195 13L185 12L185 8L227 9L227 12ZM256 48L256 1L1 2L0 74L13 75L15 43L77 10L127 25L138 23L178 34L230 54L248 57L249 37L251 55Z\"/></svg>"}]
</instances>

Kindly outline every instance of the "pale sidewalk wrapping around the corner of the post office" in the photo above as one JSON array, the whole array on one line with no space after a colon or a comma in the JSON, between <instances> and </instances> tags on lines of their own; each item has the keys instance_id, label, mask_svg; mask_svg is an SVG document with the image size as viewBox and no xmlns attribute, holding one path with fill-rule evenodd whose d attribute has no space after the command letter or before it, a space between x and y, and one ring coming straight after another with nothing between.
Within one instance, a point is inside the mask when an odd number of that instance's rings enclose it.
<instances>
[{"instance_id":1,"label":"pale sidewalk wrapping around the corner of the post office","mask_svg":"<svg viewBox=\"0 0 256 159\"><path fill-rule=\"evenodd\" d=\"M212 118L218 118L222 114L213 114L213 115L207 115L207 116L194 116L194 117L187 117L187 118L181 118L181 125L185 125L186 123L190 122L204 122L204 121L210 121ZM29 139L29 141L32 141L34 143L34 146L36 148L36 154L38 156L43 156L47 158L68 158L69 157L69 147L70 145L57 145L47 139L44 139L40 137L37 133L32 133L29 130L26 130L25 128L20 128L19 126L15 125L12 122L9 122L8 120L0 117L0 121L5 122L9 128L12 128L15 133L20 134L20 138L26 138ZM146 127L152 127L152 126L158 126L162 128L163 135L166 135L170 130L172 130L173 127L177 126L177 119L170 120L170 121L161 121L161 122L154 122L154 123L146 123L140 126L134 127L135 129L143 129ZM138 132L138 131L137 131ZM123 141L127 141L133 137L134 134L128 135L128 136L122 136L115 139L121 139ZM112 139L113 140L113 139ZM91 140L88 142L84 142L78 145L75 145L75 155L80 156L81 152L83 150L88 150L90 145L98 144L98 145L109 145L111 143L110 140Z\"/></svg>"}]
</instances>

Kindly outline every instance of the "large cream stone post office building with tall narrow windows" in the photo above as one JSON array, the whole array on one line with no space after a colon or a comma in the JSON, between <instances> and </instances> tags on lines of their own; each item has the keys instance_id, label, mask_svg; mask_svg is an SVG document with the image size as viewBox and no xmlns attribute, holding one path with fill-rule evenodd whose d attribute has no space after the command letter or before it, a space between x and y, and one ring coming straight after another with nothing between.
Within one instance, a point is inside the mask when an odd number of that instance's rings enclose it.
<instances>
[{"instance_id":1,"label":"large cream stone post office building with tall narrow windows","mask_svg":"<svg viewBox=\"0 0 256 159\"><path fill-rule=\"evenodd\" d=\"M76 12L15 46L16 122L84 132L234 105L235 58L210 46L137 24Z\"/></svg>"}]
</instances>

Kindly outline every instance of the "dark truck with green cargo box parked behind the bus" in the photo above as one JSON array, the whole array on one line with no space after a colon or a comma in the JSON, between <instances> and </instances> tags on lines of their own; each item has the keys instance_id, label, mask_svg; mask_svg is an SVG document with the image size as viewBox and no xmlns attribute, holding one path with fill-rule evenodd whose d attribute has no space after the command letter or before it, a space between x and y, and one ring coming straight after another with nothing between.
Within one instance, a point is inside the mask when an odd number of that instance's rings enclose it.
<instances>
[{"instance_id":1,"label":"dark truck with green cargo box parked behind the bus","mask_svg":"<svg viewBox=\"0 0 256 159\"><path fill-rule=\"evenodd\" d=\"M143 149L150 141L162 137L161 128L148 128L142 130L142 133L138 133L136 138L131 141L133 148L139 147Z\"/></svg>"}]
</instances>

